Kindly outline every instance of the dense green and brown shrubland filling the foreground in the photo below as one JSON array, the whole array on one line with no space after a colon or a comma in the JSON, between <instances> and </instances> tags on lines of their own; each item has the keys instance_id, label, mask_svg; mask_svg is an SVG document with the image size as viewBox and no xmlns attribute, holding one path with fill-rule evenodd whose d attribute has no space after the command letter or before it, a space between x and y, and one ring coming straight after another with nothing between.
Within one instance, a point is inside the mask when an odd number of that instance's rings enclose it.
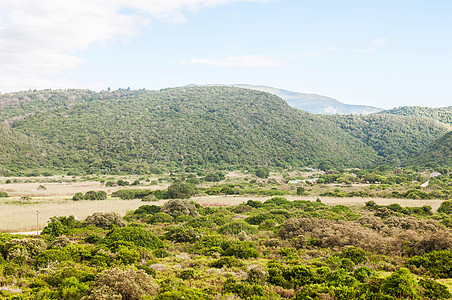
<instances>
[{"instance_id":1,"label":"dense green and brown shrubland filling the foreground","mask_svg":"<svg viewBox=\"0 0 452 300\"><path fill-rule=\"evenodd\" d=\"M449 299L451 212L173 199L0 235L5 299Z\"/></svg>"}]
</instances>

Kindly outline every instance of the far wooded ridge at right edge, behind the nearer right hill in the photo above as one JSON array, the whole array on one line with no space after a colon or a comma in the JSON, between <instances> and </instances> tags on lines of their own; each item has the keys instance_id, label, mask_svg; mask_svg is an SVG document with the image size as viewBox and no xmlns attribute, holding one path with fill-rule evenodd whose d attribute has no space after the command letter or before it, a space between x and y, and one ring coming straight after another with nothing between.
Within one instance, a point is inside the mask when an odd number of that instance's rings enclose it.
<instances>
[{"instance_id":1,"label":"far wooded ridge at right edge, behind the nearer right hill","mask_svg":"<svg viewBox=\"0 0 452 300\"><path fill-rule=\"evenodd\" d=\"M452 106L449 107L421 107L401 106L381 112L382 114L394 114L400 116L426 117L439 122L452 125Z\"/></svg>"}]
</instances>

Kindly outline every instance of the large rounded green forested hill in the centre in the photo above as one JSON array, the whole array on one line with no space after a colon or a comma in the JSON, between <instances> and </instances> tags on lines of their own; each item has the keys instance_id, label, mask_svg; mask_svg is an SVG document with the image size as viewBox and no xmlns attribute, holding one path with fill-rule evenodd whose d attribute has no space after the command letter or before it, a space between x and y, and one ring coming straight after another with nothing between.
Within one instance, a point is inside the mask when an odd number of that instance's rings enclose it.
<instances>
[{"instance_id":1,"label":"large rounded green forested hill in the centre","mask_svg":"<svg viewBox=\"0 0 452 300\"><path fill-rule=\"evenodd\" d=\"M269 93L231 87L116 91L14 123L52 145L60 167L317 165L364 167L374 151ZM101 99L107 98L107 99Z\"/></svg>"}]
</instances>

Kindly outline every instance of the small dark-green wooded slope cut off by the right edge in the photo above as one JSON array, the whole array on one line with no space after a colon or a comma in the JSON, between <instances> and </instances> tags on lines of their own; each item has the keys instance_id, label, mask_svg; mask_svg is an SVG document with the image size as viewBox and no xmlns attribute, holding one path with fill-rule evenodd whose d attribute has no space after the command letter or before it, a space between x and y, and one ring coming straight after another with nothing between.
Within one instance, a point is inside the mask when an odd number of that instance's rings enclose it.
<instances>
[{"instance_id":1,"label":"small dark-green wooded slope cut off by the right edge","mask_svg":"<svg viewBox=\"0 0 452 300\"><path fill-rule=\"evenodd\" d=\"M409 164L428 167L452 167L452 131L428 145Z\"/></svg>"}]
</instances>

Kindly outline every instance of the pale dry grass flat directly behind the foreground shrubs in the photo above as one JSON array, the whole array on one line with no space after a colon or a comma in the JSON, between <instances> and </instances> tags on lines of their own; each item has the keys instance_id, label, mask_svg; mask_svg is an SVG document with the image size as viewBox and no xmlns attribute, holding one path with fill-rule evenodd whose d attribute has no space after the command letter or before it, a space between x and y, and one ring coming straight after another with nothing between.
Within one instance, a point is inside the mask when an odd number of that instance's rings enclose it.
<instances>
[{"instance_id":1,"label":"pale dry grass flat directly behind the foreground shrubs","mask_svg":"<svg viewBox=\"0 0 452 300\"><path fill-rule=\"evenodd\" d=\"M246 202L248 200L265 201L271 197L258 196L201 196L195 197L194 201L203 206L232 206ZM316 196L300 197L285 196L289 200L310 200L315 201ZM8 199L8 200L6 200ZM443 200L407 200L407 199L386 199L386 198L330 198L321 197L322 203L328 205L348 205L360 207L367 201L375 201L379 205L389 205L398 203L402 206L423 206L430 205L434 211L440 206ZM162 205L166 201L142 202L141 200L117 200L108 199L103 201L72 201L54 200L47 198L30 203L11 202L11 198L5 198L0 202L0 231L1 232L22 232L36 229L36 211L39 211L39 228L43 228L50 217L74 215L80 220L95 212L116 212L125 215L127 211L135 210L141 205Z\"/></svg>"}]
</instances>

